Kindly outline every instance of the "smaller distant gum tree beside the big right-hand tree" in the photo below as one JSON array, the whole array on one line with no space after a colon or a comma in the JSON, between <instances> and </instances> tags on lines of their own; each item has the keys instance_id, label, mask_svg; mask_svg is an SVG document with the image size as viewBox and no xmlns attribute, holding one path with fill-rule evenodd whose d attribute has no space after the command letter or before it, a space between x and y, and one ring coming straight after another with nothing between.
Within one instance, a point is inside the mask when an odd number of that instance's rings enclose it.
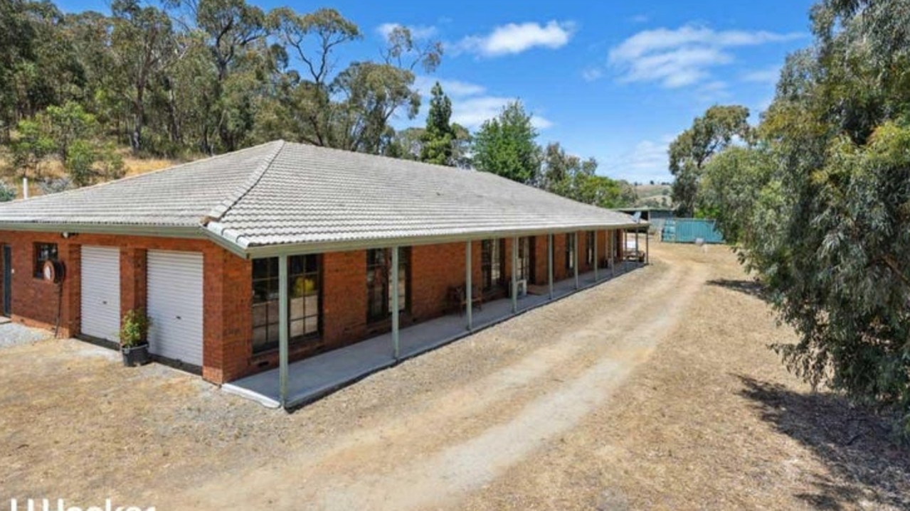
<instances>
[{"instance_id":1,"label":"smaller distant gum tree beside the big right-hand tree","mask_svg":"<svg viewBox=\"0 0 910 511\"><path fill-rule=\"evenodd\" d=\"M695 118L670 145L670 172L673 204L677 215L692 216L704 165L714 153L733 142L734 137L750 140L749 109L744 106L714 105Z\"/></svg>"}]
</instances>

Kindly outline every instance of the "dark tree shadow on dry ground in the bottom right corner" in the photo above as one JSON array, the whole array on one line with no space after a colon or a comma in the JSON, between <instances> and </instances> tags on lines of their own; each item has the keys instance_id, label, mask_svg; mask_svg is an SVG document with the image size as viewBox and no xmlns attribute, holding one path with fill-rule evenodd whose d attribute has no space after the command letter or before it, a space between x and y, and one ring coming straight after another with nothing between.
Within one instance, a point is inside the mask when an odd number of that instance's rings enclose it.
<instances>
[{"instance_id":1,"label":"dark tree shadow on dry ground in the bottom right corner","mask_svg":"<svg viewBox=\"0 0 910 511\"><path fill-rule=\"evenodd\" d=\"M742 396L764 421L811 449L828 467L811 475L814 492L796 495L818 509L910 509L910 448L885 420L829 393L803 394L747 376Z\"/></svg>"}]
</instances>

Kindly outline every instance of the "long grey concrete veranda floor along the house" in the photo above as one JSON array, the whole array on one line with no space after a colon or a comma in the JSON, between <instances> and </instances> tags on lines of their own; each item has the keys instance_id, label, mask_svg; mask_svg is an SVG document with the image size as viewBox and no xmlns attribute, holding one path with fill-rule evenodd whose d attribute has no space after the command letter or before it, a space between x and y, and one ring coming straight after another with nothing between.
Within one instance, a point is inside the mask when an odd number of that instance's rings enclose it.
<instances>
[{"instance_id":1,"label":"long grey concrete veranda floor along the house","mask_svg":"<svg viewBox=\"0 0 910 511\"><path fill-rule=\"evenodd\" d=\"M598 270L596 282L593 272L579 274L578 289L575 288L573 277L561 280L553 284L553 300L570 296L587 287L601 285L641 266L643 265L628 261L617 263L615 272L610 269ZM485 302L482 309L474 307L473 325L470 330L467 328L467 318L464 313L441 316L402 328L399 331L400 357L398 360L393 356L392 336L389 332L291 363L288 365L288 403L286 407L305 405L344 386L349 386L372 373L394 366L410 357L445 346L462 337L470 336L483 328L496 325L549 302L551 300L547 294L522 296L518 300L518 312L515 315L511 312L510 298ZM229 394L258 401L263 406L270 408L281 406L278 391L278 368L240 378L221 386L221 389Z\"/></svg>"}]
</instances>

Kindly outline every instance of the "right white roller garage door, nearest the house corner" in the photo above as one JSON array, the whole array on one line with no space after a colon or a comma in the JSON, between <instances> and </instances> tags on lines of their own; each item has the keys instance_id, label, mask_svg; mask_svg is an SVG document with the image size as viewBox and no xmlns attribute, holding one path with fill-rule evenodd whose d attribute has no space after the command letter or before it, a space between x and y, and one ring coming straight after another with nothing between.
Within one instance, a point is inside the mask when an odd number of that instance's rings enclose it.
<instances>
[{"instance_id":1,"label":"right white roller garage door, nearest the house corner","mask_svg":"<svg viewBox=\"0 0 910 511\"><path fill-rule=\"evenodd\" d=\"M148 251L148 349L202 366L202 254Z\"/></svg>"}]
</instances>

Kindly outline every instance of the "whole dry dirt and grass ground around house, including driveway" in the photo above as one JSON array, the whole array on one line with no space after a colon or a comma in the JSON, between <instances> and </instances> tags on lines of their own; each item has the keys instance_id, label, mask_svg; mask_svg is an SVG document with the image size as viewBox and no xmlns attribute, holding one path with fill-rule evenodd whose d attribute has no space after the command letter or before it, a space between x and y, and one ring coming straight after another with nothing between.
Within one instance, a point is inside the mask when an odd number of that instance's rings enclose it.
<instances>
[{"instance_id":1,"label":"whole dry dirt and grass ground around house, including driveway","mask_svg":"<svg viewBox=\"0 0 910 511\"><path fill-rule=\"evenodd\" d=\"M793 333L733 255L651 246L652 266L290 415L76 341L0 349L0 502L910 508L910 450L785 372L765 346Z\"/></svg>"}]
</instances>

